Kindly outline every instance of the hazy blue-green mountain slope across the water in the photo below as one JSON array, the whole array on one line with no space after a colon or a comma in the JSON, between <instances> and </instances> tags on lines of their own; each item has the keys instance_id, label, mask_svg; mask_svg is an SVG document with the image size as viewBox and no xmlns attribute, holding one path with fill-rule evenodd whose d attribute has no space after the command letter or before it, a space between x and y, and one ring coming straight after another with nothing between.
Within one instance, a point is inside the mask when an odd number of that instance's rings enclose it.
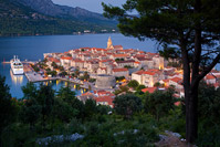
<instances>
[{"instance_id":1,"label":"hazy blue-green mountain slope across the water","mask_svg":"<svg viewBox=\"0 0 220 147\"><path fill-rule=\"evenodd\" d=\"M72 34L112 32L116 21L81 8L51 0L0 0L0 35Z\"/></svg>"}]
</instances>

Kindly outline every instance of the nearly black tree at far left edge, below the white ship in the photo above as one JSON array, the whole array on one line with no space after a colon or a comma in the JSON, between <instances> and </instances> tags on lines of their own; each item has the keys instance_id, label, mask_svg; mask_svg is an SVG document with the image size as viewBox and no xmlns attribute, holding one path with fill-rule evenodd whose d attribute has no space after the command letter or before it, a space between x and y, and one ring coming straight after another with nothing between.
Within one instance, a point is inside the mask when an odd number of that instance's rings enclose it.
<instances>
[{"instance_id":1,"label":"nearly black tree at far left edge, below the white ship","mask_svg":"<svg viewBox=\"0 0 220 147\"><path fill-rule=\"evenodd\" d=\"M3 128L10 125L17 117L17 107L9 91L10 88L6 84L6 77L0 75L0 146Z\"/></svg>"}]
</instances>

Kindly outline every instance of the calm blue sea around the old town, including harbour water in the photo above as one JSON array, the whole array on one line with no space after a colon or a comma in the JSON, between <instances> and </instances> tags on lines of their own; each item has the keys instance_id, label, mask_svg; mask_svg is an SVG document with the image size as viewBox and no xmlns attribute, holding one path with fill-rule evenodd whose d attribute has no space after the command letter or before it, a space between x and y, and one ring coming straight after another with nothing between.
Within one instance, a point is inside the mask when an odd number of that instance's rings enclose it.
<instances>
[{"instance_id":1,"label":"calm blue sea around the old town, including harbour water","mask_svg":"<svg viewBox=\"0 0 220 147\"><path fill-rule=\"evenodd\" d=\"M15 36L0 38L0 61L10 61L18 55L21 61L38 61L43 59L43 53L65 52L78 48L106 48L108 36L114 45L123 45L124 49L139 49L147 52L156 52L157 44L147 40L144 42L122 34L84 34L84 35L44 35L44 36ZM6 76L6 83L10 86L13 97L21 98L21 86L28 80L24 75L14 76L10 72L9 64L0 64L0 74ZM53 82L54 90L65 85L65 82ZM76 91L81 93L81 91Z\"/></svg>"}]
</instances>

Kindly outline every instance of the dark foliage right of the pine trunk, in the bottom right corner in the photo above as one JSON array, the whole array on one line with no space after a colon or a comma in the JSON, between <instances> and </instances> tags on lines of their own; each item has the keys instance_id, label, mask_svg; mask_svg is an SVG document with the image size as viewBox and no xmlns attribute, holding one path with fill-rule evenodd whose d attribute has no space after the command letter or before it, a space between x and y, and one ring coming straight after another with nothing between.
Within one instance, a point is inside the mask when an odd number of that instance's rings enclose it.
<instances>
[{"instance_id":1,"label":"dark foliage right of the pine trunk, in the bottom right corner","mask_svg":"<svg viewBox=\"0 0 220 147\"><path fill-rule=\"evenodd\" d=\"M199 146L218 146L220 145L220 88L201 83L199 86L198 99L199 116Z\"/></svg>"}]
</instances>

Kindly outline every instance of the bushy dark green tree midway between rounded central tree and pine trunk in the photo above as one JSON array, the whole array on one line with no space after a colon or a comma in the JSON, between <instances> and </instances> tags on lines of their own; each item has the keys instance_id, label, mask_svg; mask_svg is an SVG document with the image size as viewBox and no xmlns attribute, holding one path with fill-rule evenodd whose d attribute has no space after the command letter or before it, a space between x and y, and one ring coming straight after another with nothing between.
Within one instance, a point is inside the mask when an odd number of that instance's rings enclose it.
<instances>
[{"instance_id":1,"label":"bushy dark green tree midway between rounded central tree and pine trunk","mask_svg":"<svg viewBox=\"0 0 220 147\"><path fill-rule=\"evenodd\" d=\"M174 88L168 88L167 92L155 91L153 94L147 94L145 97L145 111L159 120L161 116L167 115L170 109L174 109L176 102L172 96L174 93Z\"/></svg>"}]
</instances>

